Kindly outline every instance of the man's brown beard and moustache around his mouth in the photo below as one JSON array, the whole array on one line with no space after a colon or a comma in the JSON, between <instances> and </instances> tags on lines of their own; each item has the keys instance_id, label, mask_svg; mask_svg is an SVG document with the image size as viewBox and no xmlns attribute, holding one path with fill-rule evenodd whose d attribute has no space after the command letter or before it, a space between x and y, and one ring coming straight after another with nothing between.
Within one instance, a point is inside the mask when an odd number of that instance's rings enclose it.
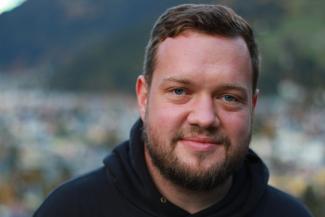
<instances>
[{"instance_id":1,"label":"man's brown beard and moustache around his mouth","mask_svg":"<svg viewBox=\"0 0 325 217\"><path fill-rule=\"evenodd\" d=\"M215 161L208 168L193 168L188 163L180 161L174 151L176 144L189 135L204 135L213 139L216 144L222 144L226 153L224 160ZM180 129L170 141L166 141L147 121L144 121L143 140L153 165L166 179L191 191L210 191L223 185L242 165L248 152L251 129L248 135L241 139L240 144L236 145L231 144L230 139L217 129L204 129L198 126ZM198 154L197 157L204 160L206 154Z\"/></svg>"}]
</instances>

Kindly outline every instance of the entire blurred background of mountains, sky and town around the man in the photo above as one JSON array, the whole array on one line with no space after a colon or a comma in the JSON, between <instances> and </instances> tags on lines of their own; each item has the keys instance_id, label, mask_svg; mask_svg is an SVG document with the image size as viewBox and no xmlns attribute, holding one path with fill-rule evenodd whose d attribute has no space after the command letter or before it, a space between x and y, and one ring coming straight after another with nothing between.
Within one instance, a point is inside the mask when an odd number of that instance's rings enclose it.
<instances>
[{"instance_id":1,"label":"entire blurred background of mountains, sky and town around the man","mask_svg":"<svg viewBox=\"0 0 325 217\"><path fill-rule=\"evenodd\" d=\"M325 216L325 1L1 0L1 217L30 216L128 137L150 28L190 2L231 6L254 27L252 148L273 185Z\"/></svg>"}]
</instances>

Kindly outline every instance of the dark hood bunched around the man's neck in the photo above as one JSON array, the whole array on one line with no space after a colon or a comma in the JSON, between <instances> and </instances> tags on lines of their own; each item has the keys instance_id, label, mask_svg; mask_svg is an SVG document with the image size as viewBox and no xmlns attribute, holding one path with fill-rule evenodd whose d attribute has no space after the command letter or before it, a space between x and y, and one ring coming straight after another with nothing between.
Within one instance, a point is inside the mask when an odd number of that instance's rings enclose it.
<instances>
[{"instance_id":1,"label":"dark hood bunched around the man's neck","mask_svg":"<svg viewBox=\"0 0 325 217\"><path fill-rule=\"evenodd\" d=\"M193 215L168 201L162 203L162 195L155 187L144 160L142 127L142 121L138 120L131 129L129 141L117 146L104 159L109 178L131 204L150 216L160 217L240 217L255 208L267 187L269 173L252 150L234 174L229 193L219 203Z\"/></svg>"}]
</instances>

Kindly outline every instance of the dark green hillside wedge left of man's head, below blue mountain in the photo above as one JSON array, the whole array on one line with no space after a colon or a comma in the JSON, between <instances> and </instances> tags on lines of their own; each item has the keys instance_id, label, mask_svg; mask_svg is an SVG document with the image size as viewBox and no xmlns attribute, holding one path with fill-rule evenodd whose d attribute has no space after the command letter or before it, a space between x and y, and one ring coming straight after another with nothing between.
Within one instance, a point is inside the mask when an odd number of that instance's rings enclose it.
<instances>
[{"instance_id":1,"label":"dark green hillside wedge left of man's head, below blue mountain","mask_svg":"<svg viewBox=\"0 0 325 217\"><path fill-rule=\"evenodd\" d=\"M57 68L53 88L93 91L134 91L142 73L145 37L142 29L129 30L87 47Z\"/></svg>"}]
</instances>

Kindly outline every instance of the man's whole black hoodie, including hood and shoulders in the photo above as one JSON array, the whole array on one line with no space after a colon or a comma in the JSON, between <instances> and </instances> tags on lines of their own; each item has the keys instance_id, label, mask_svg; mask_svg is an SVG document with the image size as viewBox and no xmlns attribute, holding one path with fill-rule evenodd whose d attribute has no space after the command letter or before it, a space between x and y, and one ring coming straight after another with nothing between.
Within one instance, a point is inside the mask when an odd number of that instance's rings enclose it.
<instances>
[{"instance_id":1,"label":"man's whole black hoodie, including hood and shoulders","mask_svg":"<svg viewBox=\"0 0 325 217\"><path fill-rule=\"evenodd\" d=\"M34 217L308 217L296 199L267 184L268 170L249 151L235 172L232 187L222 201L190 214L166 201L155 187L144 161L142 122L130 140L105 158L104 166L56 189Z\"/></svg>"}]
</instances>

